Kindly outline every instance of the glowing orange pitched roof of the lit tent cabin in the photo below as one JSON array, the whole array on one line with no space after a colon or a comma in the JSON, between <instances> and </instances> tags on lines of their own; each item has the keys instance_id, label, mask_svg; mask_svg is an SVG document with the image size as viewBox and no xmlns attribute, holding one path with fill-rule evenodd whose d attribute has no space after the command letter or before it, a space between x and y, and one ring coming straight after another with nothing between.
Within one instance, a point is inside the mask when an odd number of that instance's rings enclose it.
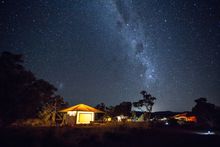
<instances>
[{"instance_id":1,"label":"glowing orange pitched roof of the lit tent cabin","mask_svg":"<svg viewBox=\"0 0 220 147\"><path fill-rule=\"evenodd\" d=\"M85 104L78 104L78 105L60 110L59 112L68 112L68 111L90 111L90 112L95 112L95 113L104 113L98 109L95 109Z\"/></svg>"}]
</instances>

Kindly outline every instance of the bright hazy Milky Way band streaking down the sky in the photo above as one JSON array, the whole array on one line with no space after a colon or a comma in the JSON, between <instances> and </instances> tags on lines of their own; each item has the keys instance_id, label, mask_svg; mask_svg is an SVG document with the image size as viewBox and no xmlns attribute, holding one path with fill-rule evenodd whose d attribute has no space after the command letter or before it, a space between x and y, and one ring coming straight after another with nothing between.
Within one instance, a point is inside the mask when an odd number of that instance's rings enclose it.
<instances>
[{"instance_id":1,"label":"bright hazy Milky Way band streaking down the sky","mask_svg":"<svg viewBox=\"0 0 220 147\"><path fill-rule=\"evenodd\" d=\"M112 10L117 14L116 23L118 30L129 44L127 50L130 53L130 58L135 58L144 68L144 73L140 77L144 77L144 83L149 87L154 81L156 73L154 66L150 60L150 49L148 48L147 38L144 34L144 29L139 16L132 9L132 1L113 1Z\"/></svg>"}]
</instances>

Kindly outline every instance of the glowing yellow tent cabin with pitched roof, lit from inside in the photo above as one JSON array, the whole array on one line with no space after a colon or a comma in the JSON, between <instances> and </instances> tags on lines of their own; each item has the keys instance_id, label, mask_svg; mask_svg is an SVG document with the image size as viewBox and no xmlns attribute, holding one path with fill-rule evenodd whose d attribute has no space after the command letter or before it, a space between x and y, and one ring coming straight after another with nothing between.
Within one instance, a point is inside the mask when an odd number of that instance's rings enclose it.
<instances>
[{"instance_id":1,"label":"glowing yellow tent cabin with pitched roof, lit from inside","mask_svg":"<svg viewBox=\"0 0 220 147\"><path fill-rule=\"evenodd\" d=\"M66 113L67 119L73 124L90 124L95 120L95 113L104 113L85 104L78 104L59 112Z\"/></svg>"}]
</instances>

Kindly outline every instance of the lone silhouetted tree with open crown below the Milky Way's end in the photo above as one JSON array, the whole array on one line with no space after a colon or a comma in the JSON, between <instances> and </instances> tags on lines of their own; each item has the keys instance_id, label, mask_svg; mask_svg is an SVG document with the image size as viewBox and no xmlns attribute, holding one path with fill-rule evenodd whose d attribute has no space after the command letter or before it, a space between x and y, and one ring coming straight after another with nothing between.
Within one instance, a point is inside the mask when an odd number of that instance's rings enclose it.
<instances>
[{"instance_id":1,"label":"lone silhouetted tree with open crown below the Milky Way's end","mask_svg":"<svg viewBox=\"0 0 220 147\"><path fill-rule=\"evenodd\" d=\"M144 106L146 108L146 111L148 112L148 114L145 114L145 115L146 115L147 120L149 121L151 117L151 112L152 112L152 108L154 105L154 101L156 100L156 98L151 96L151 94L147 93L144 90L141 91L140 94L142 94L143 99L139 100L138 102L134 102L133 105L138 108L141 108Z\"/></svg>"}]
</instances>

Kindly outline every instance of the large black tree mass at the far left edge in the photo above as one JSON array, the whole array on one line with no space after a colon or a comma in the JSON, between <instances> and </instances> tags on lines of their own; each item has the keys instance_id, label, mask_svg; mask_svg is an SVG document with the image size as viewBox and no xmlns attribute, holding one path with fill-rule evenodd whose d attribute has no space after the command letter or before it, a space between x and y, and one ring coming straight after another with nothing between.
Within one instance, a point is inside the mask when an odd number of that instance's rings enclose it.
<instances>
[{"instance_id":1,"label":"large black tree mass at the far left edge","mask_svg":"<svg viewBox=\"0 0 220 147\"><path fill-rule=\"evenodd\" d=\"M8 124L16 119L36 117L44 104L56 97L56 88L36 79L24 68L21 54L0 55L0 120Z\"/></svg>"}]
</instances>

